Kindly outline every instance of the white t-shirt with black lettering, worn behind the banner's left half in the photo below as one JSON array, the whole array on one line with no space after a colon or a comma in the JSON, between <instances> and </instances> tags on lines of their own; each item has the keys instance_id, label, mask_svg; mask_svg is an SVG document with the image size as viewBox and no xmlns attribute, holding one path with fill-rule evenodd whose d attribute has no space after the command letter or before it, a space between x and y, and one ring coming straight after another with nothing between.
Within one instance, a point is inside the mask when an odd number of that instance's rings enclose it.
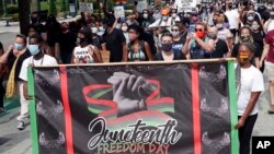
<instances>
[{"instance_id":1,"label":"white t-shirt with black lettering, worn behind the banner's left half","mask_svg":"<svg viewBox=\"0 0 274 154\"><path fill-rule=\"evenodd\" d=\"M76 47L73 50L75 63L93 63L93 57L89 54L90 48L94 48L94 46L89 45L83 48L80 46Z\"/></svg>"}]
</instances>

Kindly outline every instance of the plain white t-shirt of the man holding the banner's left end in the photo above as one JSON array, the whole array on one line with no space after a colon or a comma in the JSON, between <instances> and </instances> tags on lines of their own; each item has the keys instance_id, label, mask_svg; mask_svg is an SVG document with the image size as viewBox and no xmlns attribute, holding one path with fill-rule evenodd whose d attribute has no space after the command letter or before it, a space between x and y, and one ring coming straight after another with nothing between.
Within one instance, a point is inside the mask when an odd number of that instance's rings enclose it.
<instances>
[{"instance_id":1,"label":"plain white t-shirt of the man holding the banner's left end","mask_svg":"<svg viewBox=\"0 0 274 154\"><path fill-rule=\"evenodd\" d=\"M33 56L31 56L23 61L23 64L19 74L20 79L22 79L23 81L27 81L27 68L32 64L34 67L39 67L39 66L57 66L58 63L54 57L48 56L48 55L44 55L44 57L39 60L33 59Z\"/></svg>"}]
</instances>

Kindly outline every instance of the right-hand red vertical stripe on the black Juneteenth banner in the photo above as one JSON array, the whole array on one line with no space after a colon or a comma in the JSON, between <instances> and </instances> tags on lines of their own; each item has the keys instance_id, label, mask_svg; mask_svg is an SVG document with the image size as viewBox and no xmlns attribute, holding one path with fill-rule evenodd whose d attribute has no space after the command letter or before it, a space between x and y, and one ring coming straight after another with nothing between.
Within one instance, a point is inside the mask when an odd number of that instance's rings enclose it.
<instances>
[{"instance_id":1,"label":"right-hand red vertical stripe on the black Juneteenth banner","mask_svg":"<svg viewBox=\"0 0 274 154\"><path fill-rule=\"evenodd\" d=\"M194 135L194 154L202 153L201 143L201 117L199 117L199 81L198 64L192 64L192 105L193 105L193 135Z\"/></svg>"}]
</instances>

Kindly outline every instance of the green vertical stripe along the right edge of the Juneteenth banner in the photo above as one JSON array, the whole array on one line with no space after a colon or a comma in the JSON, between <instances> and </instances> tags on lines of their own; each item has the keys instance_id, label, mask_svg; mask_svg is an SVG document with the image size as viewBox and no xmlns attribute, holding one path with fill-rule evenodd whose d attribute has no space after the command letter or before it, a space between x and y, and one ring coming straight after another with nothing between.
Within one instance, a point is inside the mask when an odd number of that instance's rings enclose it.
<instances>
[{"instance_id":1,"label":"green vertical stripe along the right edge of the Juneteenth banner","mask_svg":"<svg viewBox=\"0 0 274 154\"><path fill-rule=\"evenodd\" d=\"M228 61L228 84L231 119L231 154L239 154L238 130L235 129L235 126L238 123L235 61Z\"/></svg>"}]
</instances>

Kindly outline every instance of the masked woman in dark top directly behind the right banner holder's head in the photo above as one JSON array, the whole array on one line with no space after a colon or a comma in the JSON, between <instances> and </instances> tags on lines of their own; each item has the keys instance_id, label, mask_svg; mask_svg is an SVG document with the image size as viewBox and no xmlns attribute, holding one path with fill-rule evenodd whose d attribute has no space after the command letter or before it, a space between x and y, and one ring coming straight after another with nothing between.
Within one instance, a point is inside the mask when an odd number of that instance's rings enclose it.
<instances>
[{"instance_id":1,"label":"masked woman in dark top directly behind the right banner holder's head","mask_svg":"<svg viewBox=\"0 0 274 154\"><path fill-rule=\"evenodd\" d=\"M231 57L237 58L238 50L241 44L243 43L252 43L256 49L255 52L255 67L259 68L260 56L262 55L262 50L260 51L260 45L254 43L252 37L252 29L249 26L242 26L239 31L239 43L233 46Z\"/></svg>"}]
</instances>

